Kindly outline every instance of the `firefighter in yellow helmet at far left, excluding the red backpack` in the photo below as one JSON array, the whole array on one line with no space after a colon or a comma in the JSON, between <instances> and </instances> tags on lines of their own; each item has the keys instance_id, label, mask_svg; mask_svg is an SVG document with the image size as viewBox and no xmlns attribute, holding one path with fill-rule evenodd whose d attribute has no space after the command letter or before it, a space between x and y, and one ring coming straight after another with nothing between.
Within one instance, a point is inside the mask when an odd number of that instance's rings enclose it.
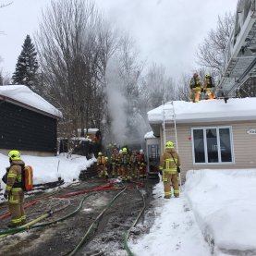
<instances>
[{"instance_id":1,"label":"firefighter in yellow helmet at far left, excluding the red backpack","mask_svg":"<svg viewBox=\"0 0 256 256\"><path fill-rule=\"evenodd\" d=\"M8 200L11 221L8 227L22 226L26 223L23 208L24 191L21 183L21 172L25 163L20 159L20 152L12 150L8 153L10 166L6 168L6 191L4 197Z\"/></svg>"}]
</instances>

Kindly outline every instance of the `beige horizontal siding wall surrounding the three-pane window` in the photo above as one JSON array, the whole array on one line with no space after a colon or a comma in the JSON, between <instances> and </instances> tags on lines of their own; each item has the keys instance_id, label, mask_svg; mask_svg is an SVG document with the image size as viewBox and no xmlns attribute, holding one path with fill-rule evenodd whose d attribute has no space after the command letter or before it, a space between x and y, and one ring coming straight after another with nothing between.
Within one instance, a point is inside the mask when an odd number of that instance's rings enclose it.
<instances>
[{"instance_id":1,"label":"beige horizontal siding wall surrounding the three-pane window","mask_svg":"<svg viewBox=\"0 0 256 256\"><path fill-rule=\"evenodd\" d=\"M233 164L195 164L193 163L193 145L191 128L204 127L231 127L233 136ZM172 139L171 130L174 128L171 124L165 124L166 139ZM256 134L248 134L250 129L256 129L256 121L237 121L237 122L211 122L193 124L177 124L177 146L181 160L181 177L185 180L188 170L193 169L236 169L236 168L256 168ZM164 136L161 131L161 153L164 151Z\"/></svg>"}]
</instances>

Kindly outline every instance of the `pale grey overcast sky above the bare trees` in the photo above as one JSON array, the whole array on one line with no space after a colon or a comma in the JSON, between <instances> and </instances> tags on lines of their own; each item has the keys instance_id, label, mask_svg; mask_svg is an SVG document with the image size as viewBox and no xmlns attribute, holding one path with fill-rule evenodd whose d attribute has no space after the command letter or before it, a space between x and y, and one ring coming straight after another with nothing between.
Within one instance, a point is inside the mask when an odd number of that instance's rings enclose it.
<instances>
[{"instance_id":1,"label":"pale grey overcast sky above the bare trees","mask_svg":"<svg viewBox=\"0 0 256 256\"><path fill-rule=\"evenodd\" d=\"M15 70L27 34L33 40L42 9L50 0L0 0L12 5L0 8L0 64ZM177 78L193 72L199 43L216 27L217 18L235 13L238 0L95 0L105 16L129 32L137 42L142 59L166 67Z\"/></svg>"}]
</instances>

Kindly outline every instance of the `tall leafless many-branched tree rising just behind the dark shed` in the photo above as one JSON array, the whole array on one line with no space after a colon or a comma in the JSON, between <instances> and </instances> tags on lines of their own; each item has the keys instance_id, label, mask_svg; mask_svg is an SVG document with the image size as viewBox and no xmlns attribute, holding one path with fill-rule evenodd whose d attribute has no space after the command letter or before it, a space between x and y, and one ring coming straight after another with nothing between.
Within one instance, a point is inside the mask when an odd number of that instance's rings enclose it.
<instances>
[{"instance_id":1,"label":"tall leafless many-branched tree rising just behind the dark shed","mask_svg":"<svg viewBox=\"0 0 256 256\"><path fill-rule=\"evenodd\" d=\"M115 35L91 1L52 2L36 35L43 91L62 110L70 136L101 128L105 68ZM100 111L99 111L100 110ZM67 130L66 129L66 130Z\"/></svg>"}]
</instances>

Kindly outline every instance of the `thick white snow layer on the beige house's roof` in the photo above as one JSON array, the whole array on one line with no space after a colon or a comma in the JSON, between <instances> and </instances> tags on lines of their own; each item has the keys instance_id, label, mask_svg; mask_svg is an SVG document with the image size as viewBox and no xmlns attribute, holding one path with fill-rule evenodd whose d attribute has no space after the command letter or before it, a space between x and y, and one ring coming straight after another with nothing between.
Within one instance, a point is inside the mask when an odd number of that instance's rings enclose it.
<instances>
[{"instance_id":1,"label":"thick white snow layer on the beige house's roof","mask_svg":"<svg viewBox=\"0 0 256 256\"><path fill-rule=\"evenodd\" d=\"M177 123L256 120L256 98L204 100L199 103L173 101L148 112L150 124L174 120Z\"/></svg>"}]
</instances>

